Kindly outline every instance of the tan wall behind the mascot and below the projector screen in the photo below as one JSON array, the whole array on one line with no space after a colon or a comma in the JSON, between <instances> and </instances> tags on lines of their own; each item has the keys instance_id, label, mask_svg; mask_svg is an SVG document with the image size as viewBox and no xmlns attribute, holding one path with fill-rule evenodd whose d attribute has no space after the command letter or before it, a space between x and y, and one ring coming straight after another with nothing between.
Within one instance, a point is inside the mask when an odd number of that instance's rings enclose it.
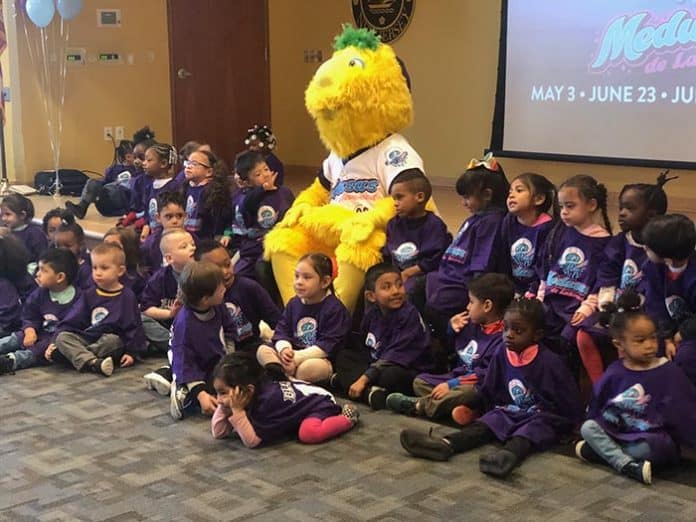
<instances>
[{"instance_id":1,"label":"tan wall behind the mascot and below the projector screen","mask_svg":"<svg viewBox=\"0 0 696 522\"><path fill-rule=\"evenodd\" d=\"M352 22L349 0L269 0L271 107L279 155L288 164L319 165L326 151L304 109L304 88L317 64L304 49L330 57L341 23ZM321 23L317 23L321 20ZM413 81L415 123L405 132L438 183L450 183L468 160L489 145L498 69L500 0L416 0L414 16L394 42ZM636 180L652 182L657 169L502 158L512 177L526 170L554 182L576 173L603 181L610 191ZM666 187L672 207L693 207L692 172Z\"/></svg>"}]
</instances>

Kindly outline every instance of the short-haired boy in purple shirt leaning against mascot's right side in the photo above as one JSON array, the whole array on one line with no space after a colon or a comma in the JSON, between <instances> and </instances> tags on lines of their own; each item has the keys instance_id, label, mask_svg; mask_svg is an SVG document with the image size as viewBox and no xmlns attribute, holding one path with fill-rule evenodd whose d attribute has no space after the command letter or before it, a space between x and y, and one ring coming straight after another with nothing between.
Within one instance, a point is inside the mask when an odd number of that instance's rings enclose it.
<instances>
[{"instance_id":1,"label":"short-haired boy in purple shirt leaning against mascot's right side","mask_svg":"<svg viewBox=\"0 0 696 522\"><path fill-rule=\"evenodd\" d=\"M452 235L438 216L425 210L433 190L420 169L400 173L389 190L396 216L387 223L382 256L399 267L409 299L423 313L425 276L437 270Z\"/></svg>"}]
</instances>

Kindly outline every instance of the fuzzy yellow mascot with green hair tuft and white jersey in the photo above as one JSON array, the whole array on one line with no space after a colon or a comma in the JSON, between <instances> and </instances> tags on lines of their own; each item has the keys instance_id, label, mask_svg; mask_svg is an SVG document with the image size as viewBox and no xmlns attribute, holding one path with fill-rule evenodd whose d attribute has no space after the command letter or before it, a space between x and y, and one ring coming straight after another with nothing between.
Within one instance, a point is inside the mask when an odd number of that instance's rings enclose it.
<instances>
[{"instance_id":1,"label":"fuzzy yellow mascot with green hair tuft and white jersey","mask_svg":"<svg viewBox=\"0 0 696 522\"><path fill-rule=\"evenodd\" d=\"M298 259L334 257L336 294L353 310L365 271L382 259L394 217L389 187L423 161L398 132L413 118L408 76L393 49L367 29L343 27L335 52L314 74L305 105L329 149L317 179L265 239L283 301L293 297Z\"/></svg>"}]
</instances>

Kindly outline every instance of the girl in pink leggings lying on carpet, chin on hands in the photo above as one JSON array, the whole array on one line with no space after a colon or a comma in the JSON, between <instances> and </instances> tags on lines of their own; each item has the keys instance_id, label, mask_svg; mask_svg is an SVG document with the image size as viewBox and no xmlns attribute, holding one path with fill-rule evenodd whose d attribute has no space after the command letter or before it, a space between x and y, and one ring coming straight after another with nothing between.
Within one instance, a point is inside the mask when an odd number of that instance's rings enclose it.
<instances>
[{"instance_id":1,"label":"girl in pink leggings lying on carpet, chin on hands","mask_svg":"<svg viewBox=\"0 0 696 522\"><path fill-rule=\"evenodd\" d=\"M341 408L328 391L300 381L274 381L252 354L226 355L215 368L218 406L213 415L213 437L234 430L247 448L295 436L318 444L350 431L358 410Z\"/></svg>"}]
</instances>

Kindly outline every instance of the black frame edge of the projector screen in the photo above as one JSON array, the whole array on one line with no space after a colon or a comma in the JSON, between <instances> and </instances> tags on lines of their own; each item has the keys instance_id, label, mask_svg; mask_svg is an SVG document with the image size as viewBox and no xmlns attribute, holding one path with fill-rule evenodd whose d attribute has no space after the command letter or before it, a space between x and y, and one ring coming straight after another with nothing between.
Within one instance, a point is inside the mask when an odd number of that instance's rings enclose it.
<instances>
[{"instance_id":1,"label":"black frame edge of the projector screen","mask_svg":"<svg viewBox=\"0 0 696 522\"><path fill-rule=\"evenodd\" d=\"M492 152L501 158L517 158L540 161L559 161L564 163L588 163L597 165L620 165L626 167L646 167L696 170L696 162L666 161L649 158L618 158L606 156L585 156L574 154L557 154L548 152L530 152L506 150L503 148L505 136L505 88L507 74L507 27L508 0L501 0L500 13L500 45L498 48L498 78L495 92L495 108L493 110L493 128L491 130L490 147L485 152Z\"/></svg>"}]
</instances>

